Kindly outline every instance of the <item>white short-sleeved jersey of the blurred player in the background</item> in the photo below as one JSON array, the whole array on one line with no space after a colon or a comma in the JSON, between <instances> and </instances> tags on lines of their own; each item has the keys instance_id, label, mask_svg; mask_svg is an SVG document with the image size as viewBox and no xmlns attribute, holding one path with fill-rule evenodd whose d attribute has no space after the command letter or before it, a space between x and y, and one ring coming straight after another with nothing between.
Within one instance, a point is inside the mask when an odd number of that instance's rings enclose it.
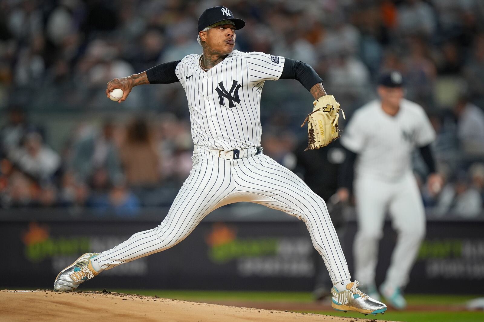
<instances>
[{"instance_id":1,"label":"white short-sleeved jersey of the blurred player in the background","mask_svg":"<svg viewBox=\"0 0 484 322\"><path fill-rule=\"evenodd\" d=\"M355 174L392 181L411 170L411 152L435 140L435 131L423 108L402 99L391 116L379 100L358 109L349 120L341 144L358 154Z\"/></svg>"}]
</instances>

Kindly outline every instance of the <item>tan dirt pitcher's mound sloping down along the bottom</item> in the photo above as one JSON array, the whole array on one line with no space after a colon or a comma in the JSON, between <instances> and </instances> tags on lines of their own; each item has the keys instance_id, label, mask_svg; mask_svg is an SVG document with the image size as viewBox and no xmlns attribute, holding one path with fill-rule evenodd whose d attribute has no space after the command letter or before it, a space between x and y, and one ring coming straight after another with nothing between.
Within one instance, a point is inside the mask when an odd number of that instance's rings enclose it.
<instances>
[{"instance_id":1,"label":"tan dirt pitcher's mound sloping down along the bottom","mask_svg":"<svg viewBox=\"0 0 484 322\"><path fill-rule=\"evenodd\" d=\"M0 321L358 321L109 292L0 291Z\"/></svg>"}]
</instances>

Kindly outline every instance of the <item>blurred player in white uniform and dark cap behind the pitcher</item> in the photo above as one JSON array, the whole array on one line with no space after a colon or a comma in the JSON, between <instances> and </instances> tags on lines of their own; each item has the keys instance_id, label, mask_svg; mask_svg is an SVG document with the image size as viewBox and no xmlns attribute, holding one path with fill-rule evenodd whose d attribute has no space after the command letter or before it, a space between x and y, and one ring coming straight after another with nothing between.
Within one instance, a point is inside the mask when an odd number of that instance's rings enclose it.
<instances>
[{"instance_id":1,"label":"blurred player in white uniform and dark cap behind the pitcher","mask_svg":"<svg viewBox=\"0 0 484 322\"><path fill-rule=\"evenodd\" d=\"M348 122L342 145L348 149L343 165L345 175L341 199L348 199L354 178L358 219L353 252L356 276L365 280L367 293L379 298L375 285L378 240L382 237L385 214L391 215L398 239L391 264L380 292L394 308L406 307L402 288L425 235L425 213L416 179L412 172L411 153L419 148L430 175L430 189L439 190L440 176L430 143L435 132L423 108L404 99L403 78L397 71L382 75L379 99L358 109ZM353 167L354 166L354 167Z\"/></svg>"}]
</instances>

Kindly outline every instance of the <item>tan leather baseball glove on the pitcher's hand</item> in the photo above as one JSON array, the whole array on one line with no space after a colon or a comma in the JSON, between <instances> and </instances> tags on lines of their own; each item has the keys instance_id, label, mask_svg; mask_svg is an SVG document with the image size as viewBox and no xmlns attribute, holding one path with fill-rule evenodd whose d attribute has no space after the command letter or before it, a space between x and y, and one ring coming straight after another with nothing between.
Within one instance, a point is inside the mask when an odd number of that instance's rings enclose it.
<instances>
[{"instance_id":1,"label":"tan leather baseball glove on the pitcher's hand","mask_svg":"<svg viewBox=\"0 0 484 322\"><path fill-rule=\"evenodd\" d=\"M315 150L330 144L340 137L338 130L339 103L333 95L325 95L314 101L313 112L309 113L301 127L307 122L308 144L304 151ZM343 118L345 117L345 112Z\"/></svg>"}]
</instances>

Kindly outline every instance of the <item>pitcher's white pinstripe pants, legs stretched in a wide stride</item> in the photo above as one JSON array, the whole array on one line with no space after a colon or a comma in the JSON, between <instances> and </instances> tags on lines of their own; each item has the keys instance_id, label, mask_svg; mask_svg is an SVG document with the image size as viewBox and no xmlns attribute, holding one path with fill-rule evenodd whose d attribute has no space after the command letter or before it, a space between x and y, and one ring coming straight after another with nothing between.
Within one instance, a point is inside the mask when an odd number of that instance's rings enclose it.
<instances>
[{"instance_id":1,"label":"pitcher's white pinstripe pants, legs stretched in a wide stride","mask_svg":"<svg viewBox=\"0 0 484 322\"><path fill-rule=\"evenodd\" d=\"M102 252L98 256L101 268L109 269L175 246L212 210L248 201L301 219L333 284L350 279L326 204L298 176L264 154L237 160L194 154L192 160L194 166L190 175L165 220L158 227L136 233L113 249Z\"/></svg>"}]
</instances>

